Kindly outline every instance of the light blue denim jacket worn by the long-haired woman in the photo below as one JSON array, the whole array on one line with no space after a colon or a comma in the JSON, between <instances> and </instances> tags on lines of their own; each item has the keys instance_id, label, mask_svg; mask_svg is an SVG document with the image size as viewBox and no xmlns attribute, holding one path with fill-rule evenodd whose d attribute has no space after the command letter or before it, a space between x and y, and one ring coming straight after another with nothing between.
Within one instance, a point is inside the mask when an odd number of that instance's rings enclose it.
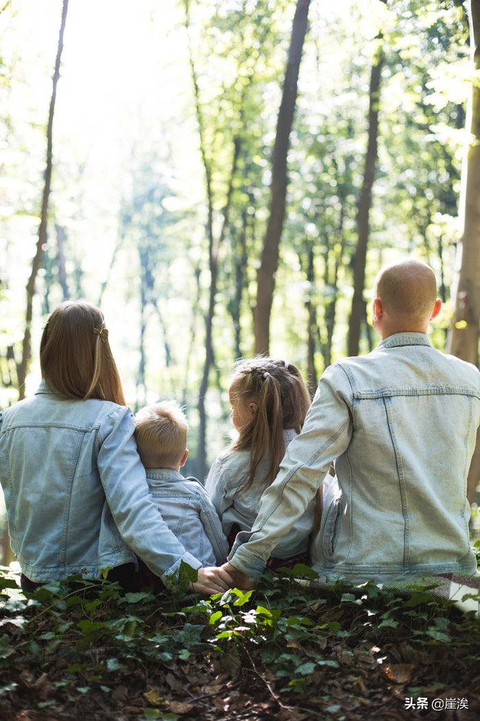
<instances>
[{"instance_id":1,"label":"light blue denim jacket worn by the long-haired woman","mask_svg":"<svg viewBox=\"0 0 480 721\"><path fill-rule=\"evenodd\" d=\"M185 551L155 505L129 408L63 399L42 381L0 414L0 481L12 550L30 580L45 583L135 562L174 583ZM135 552L135 554L133 553Z\"/></svg>"}]
</instances>

